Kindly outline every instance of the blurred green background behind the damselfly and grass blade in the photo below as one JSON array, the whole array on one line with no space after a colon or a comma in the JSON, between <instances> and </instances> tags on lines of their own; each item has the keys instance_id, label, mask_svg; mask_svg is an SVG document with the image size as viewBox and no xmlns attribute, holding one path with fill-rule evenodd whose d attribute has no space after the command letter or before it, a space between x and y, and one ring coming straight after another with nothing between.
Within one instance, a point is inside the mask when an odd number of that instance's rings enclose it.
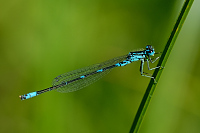
<instances>
[{"instance_id":1,"label":"blurred green background behind the damselfly and grass blade","mask_svg":"<svg viewBox=\"0 0 200 133\"><path fill-rule=\"evenodd\" d=\"M127 133L149 83L140 62L73 93L19 95L147 44L162 51L184 0L10 0L0 4L0 132ZM140 133L200 131L200 1L194 1ZM156 64L155 64L156 65ZM155 66L153 65L153 66Z\"/></svg>"}]
</instances>

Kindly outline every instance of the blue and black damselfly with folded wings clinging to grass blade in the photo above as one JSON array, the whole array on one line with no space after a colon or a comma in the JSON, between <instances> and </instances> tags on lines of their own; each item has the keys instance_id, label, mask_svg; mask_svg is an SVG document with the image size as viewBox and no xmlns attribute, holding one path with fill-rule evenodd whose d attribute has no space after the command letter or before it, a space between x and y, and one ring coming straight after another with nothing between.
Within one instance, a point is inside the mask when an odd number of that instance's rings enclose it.
<instances>
[{"instance_id":1,"label":"blue and black damselfly with folded wings clinging to grass blade","mask_svg":"<svg viewBox=\"0 0 200 133\"><path fill-rule=\"evenodd\" d=\"M152 60L151 56L154 56L154 54L156 54L154 48L151 45L147 45L146 50L130 52L127 55L116 57L99 64L94 64L85 68L61 74L53 80L52 87L21 95L19 97L21 98L21 100L25 100L51 90L57 90L58 92L63 93L76 91L94 83L95 81L106 75L108 72L110 72L111 69L115 67L126 66L127 64L135 61L141 61L140 74L142 76L154 79L154 77L152 77L150 74L143 72L145 61L147 62L147 67L149 70L160 68L159 66L155 68L149 67L149 61L151 63L154 63L159 58L157 57Z\"/></svg>"}]
</instances>

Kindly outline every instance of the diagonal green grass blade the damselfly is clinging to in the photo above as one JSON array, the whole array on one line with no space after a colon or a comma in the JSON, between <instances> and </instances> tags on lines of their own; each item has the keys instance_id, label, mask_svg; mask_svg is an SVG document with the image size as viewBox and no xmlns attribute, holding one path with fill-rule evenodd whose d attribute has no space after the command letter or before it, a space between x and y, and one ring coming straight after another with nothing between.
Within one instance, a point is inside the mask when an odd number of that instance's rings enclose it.
<instances>
[{"instance_id":1,"label":"diagonal green grass blade the damselfly is clinging to","mask_svg":"<svg viewBox=\"0 0 200 133\"><path fill-rule=\"evenodd\" d=\"M171 50L172 50L172 48L174 46L174 43L175 43L176 38L177 38L177 36L178 36L178 34L179 34L180 30L181 30L181 27L182 27L182 25L183 25L183 23L184 23L184 21L185 21L185 19L187 17L187 14L188 14L191 6L192 6L193 1L194 0L185 0L185 3L183 5L183 7L182 7L182 10L181 10L181 12L179 14L179 17L178 17L176 23L174 25L174 28L173 28L173 30L171 32L171 35L170 35L170 37L169 37L169 39L167 41L167 44L165 45L164 51L163 51L163 53L161 55L161 58L160 58L157 66L165 67L167 59L168 59L168 57L170 55L170 52L171 52ZM153 73L153 77L155 77L155 80L157 82L159 81L159 78L160 78L160 75L162 73L162 70L163 69L156 69L154 71L154 73ZM142 120L144 118L144 115L145 115L145 113L147 111L147 108L149 106L151 97L152 97L152 95L154 93L154 90L156 88L156 85L157 84L154 83L154 80L151 79L151 81L150 81L150 83L149 83L149 85L147 87L147 90L146 90L146 92L145 92L145 94L143 96L143 99L142 99L142 101L140 103L140 106L139 106L139 109L138 109L137 114L135 116L135 119L133 121L133 124L131 126L130 133L133 133L133 132L137 133L138 132L139 127L140 127L140 125L142 123Z\"/></svg>"}]
</instances>

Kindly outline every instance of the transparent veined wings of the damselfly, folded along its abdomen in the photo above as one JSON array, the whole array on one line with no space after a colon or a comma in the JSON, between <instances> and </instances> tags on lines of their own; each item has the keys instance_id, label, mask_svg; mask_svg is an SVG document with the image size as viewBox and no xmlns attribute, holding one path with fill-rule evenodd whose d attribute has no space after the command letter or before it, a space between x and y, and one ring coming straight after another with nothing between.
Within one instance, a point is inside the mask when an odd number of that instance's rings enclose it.
<instances>
[{"instance_id":1,"label":"transparent veined wings of the damselfly, folded along its abdomen","mask_svg":"<svg viewBox=\"0 0 200 133\"><path fill-rule=\"evenodd\" d=\"M74 71L71 71L71 72L68 72L68 73L61 74L53 80L52 85L53 86L59 85L59 84L65 83L67 81L79 78L80 76L95 72L99 69L103 69L105 67L112 66L116 63L119 63L119 62L125 60L126 57L127 57L127 55L116 57L116 58L110 59L108 61L99 63L99 64L94 64L94 65L91 65L91 66L88 66L88 67L84 67L84 68L77 69L77 70L74 70ZM107 69L103 72L99 72L99 73L90 75L88 77L85 77L83 79L76 80L76 81L71 82L71 83L69 83L65 86L59 87L56 90L58 92L62 92L62 93L80 90L80 89L94 83L95 81L99 80L101 77L103 77L104 75L109 73L110 70L111 69Z\"/></svg>"}]
</instances>

